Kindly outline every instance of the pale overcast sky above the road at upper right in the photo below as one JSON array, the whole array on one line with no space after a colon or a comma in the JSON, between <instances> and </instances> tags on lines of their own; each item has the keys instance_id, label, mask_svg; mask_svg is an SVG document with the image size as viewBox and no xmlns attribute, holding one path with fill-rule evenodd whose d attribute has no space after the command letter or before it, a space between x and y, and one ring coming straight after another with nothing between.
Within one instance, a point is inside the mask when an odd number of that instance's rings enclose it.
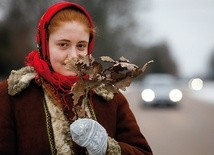
<instances>
[{"instance_id":1,"label":"pale overcast sky above the road at upper right","mask_svg":"<svg viewBox=\"0 0 214 155\"><path fill-rule=\"evenodd\" d=\"M181 76L205 74L209 57L214 52L214 0L148 2L147 11L142 11L145 3L136 6L139 24L146 21L150 30L148 43L166 41Z\"/></svg>"}]
</instances>

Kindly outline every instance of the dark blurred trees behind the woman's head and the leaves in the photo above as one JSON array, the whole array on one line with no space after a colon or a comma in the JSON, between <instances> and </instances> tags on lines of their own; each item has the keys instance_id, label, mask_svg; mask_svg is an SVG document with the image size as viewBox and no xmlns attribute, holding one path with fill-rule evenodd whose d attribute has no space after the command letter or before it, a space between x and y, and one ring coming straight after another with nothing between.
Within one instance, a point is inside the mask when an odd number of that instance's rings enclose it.
<instances>
[{"instance_id":1,"label":"dark blurred trees behind the woman's head and the leaves","mask_svg":"<svg viewBox=\"0 0 214 155\"><path fill-rule=\"evenodd\" d=\"M144 0L146 1L146 0ZM36 49L35 34L39 18L56 0L2 0L0 9L4 18L0 21L0 77L7 77L12 69L24 65L25 56ZM101 1L73 0L91 13L96 25L94 57L121 56L137 65L153 59L147 72L166 72L177 75L177 67L171 58L167 44L154 47L136 44L136 21L131 0ZM145 30L146 31L146 30ZM141 38L145 38L145 33ZM138 37L139 38L139 37Z\"/></svg>"}]
</instances>

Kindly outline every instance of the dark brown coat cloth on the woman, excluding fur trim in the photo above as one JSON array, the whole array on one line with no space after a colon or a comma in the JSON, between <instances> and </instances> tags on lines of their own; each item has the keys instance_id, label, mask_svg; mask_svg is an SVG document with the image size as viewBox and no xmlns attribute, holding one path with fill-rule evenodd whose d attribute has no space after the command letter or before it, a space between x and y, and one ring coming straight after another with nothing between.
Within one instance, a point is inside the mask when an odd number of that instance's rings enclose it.
<instances>
[{"instance_id":1,"label":"dark brown coat cloth on the woman, excluding fur trim","mask_svg":"<svg viewBox=\"0 0 214 155\"><path fill-rule=\"evenodd\" d=\"M0 154L51 154L52 133L47 129L42 88L32 81L15 96L8 95L7 89L7 81L0 82ZM92 101L97 121L119 142L123 155L152 154L122 94L108 103L97 95ZM82 150L75 149L81 155Z\"/></svg>"}]
</instances>

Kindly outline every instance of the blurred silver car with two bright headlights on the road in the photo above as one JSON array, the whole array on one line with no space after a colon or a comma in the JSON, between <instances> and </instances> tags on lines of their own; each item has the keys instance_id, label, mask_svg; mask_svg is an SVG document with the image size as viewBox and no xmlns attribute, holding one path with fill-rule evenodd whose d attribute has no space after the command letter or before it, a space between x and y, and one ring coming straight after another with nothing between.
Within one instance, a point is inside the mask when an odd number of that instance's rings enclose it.
<instances>
[{"instance_id":1,"label":"blurred silver car with two bright headlights on the road","mask_svg":"<svg viewBox=\"0 0 214 155\"><path fill-rule=\"evenodd\" d=\"M174 105L181 101L182 91L178 80L171 74L148 74L142 81L143 105Z\"/></svg>"}]
</instances>

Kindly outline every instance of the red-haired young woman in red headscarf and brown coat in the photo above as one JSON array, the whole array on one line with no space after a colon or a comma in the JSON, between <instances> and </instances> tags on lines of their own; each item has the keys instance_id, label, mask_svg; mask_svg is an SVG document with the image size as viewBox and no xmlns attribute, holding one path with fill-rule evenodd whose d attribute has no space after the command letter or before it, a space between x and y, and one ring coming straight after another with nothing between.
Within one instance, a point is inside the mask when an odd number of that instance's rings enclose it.
<instances>
[{"instance_id":1,"label":"red-haired young woman in red headscarf and brown coat","mask_svg":"<svg viewBox=\"0 0 214 155\"><path fill-rule=\"evenodd\" d=\"M152 154L121 93L105 100L91 91L83 109L81 101L73 104L70 89L80 77L65 60L90 55L94 45L82 6L51 6L39 21L37 44L26 66L0 83L0 154Z\"/></svg>"}]
</instances>

